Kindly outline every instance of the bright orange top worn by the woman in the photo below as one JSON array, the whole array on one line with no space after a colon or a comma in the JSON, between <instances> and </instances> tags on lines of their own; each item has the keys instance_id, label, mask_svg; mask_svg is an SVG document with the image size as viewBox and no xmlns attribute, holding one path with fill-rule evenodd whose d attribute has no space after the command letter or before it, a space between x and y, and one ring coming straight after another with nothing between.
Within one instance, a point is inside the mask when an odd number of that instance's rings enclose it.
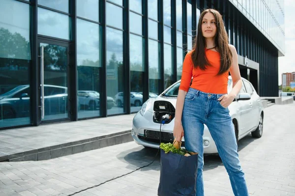
<instances>
[{"instance_id":1,"label":"bright orange top worn by the woman","mask_svg":"<svg viewBox=\"0 0 295 196\"><path fill-rule=\"evenodd\" d=\"M222 75L217 75L220 69L220 54L216 51L205 49L207 60L211 66L207 66L206 70L202 70L199 67L194 69L191 53L187 53L184 58L179 89L187 92L189 87L192 87L206 93L228 93L229 72L227 71ZM192 77L193 81L190 85Z\"/></svg>"}]
</instances>

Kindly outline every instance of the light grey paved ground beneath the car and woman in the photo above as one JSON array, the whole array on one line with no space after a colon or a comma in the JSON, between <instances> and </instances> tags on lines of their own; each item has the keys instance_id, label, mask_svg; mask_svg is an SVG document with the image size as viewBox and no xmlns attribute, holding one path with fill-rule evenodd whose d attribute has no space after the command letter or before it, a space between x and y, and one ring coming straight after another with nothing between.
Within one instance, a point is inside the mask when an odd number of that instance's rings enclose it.
<instances>
[{"instance_id":1,"label":"light grey paved ground beneath the car and woman","mask_svg":"<svg viewBox=\"0 0 295 196\"><path fill-rule=\"evenodd\" d=\"M238 153L250 196L295 196L295 104L265 109L264 133L239 140ZM69 196L148 165L157 149L135 142L46 161L0 163L0 196ZM233 196L218 156L204 158L205 196ZM160 159L147 168L75 196L156 196Z\"/></svg>"}]
</instances>

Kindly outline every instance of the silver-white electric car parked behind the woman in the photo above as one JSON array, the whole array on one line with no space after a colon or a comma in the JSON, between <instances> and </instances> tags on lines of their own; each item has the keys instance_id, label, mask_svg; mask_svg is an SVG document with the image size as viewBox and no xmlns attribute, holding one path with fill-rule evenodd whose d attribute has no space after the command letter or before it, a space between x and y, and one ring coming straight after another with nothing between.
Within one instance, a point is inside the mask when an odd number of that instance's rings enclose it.
<instances>
[{"instance_id":1,"label":"silver-white electric car parked behind the woman","mask_svg":"<svg viewBox=\"0 0 295 196\"><path fill-rule=\"evenodd\" d=\"M243 85L240 93L228 107L235 125L237 142L249 133L254 138L260 138L263 134L264 107L260 96L249 81L244 78L242 78L242 81ZM137 144L152 148L159 147L160 121L162 116L168 112L172 113L172 119L167 124L161 125L161 141L173 142L173 112L175 112L179 85L180 80L168 87L157 98L148 99L141 110L134 116L131 134ZM231 91L232 85L232 78L229 76L228 92ZM161 103L162 106L158 106L158 103ZM170 111L166 113L158 112L159 107L163 107L163 104ZM182 143L185 143L183 138ZM217 153L215 142L206 125L204 127L203 145L205 154Z\"/></svg>"}]
</instances>

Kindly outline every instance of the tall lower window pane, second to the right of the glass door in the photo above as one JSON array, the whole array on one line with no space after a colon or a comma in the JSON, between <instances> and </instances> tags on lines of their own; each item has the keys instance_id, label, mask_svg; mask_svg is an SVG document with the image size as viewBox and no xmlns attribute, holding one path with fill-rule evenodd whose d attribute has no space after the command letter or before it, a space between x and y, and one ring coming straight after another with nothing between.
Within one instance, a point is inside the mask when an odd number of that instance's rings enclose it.
<instances>
[{"instance_id":1,"label":"tall lower window pane, second to the right of the glass door","mask_svg":"<svg viewBox=\"0 0 295 196\"><path fill-rule=\"evenodd\" d=\"M115 99L116 106L107 113L125 112L123 31L107 28L107 96Z\"/></svg>"}]
</instances>

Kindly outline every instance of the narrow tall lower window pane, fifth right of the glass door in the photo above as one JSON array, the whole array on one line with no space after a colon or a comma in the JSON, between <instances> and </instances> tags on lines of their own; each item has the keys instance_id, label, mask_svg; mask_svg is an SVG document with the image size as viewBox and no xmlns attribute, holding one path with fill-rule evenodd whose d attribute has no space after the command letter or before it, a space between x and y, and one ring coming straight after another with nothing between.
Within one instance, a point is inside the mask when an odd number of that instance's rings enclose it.
<instances>
[{"instance_id":1,"label":"narrow tall lower window pane, fifth right of the glass door","mask_svg":"<svg viewBox=\"0 0 295 196\"><path fill-rule=\"evenodd\" d=\"M173 84L172 46L164 44L164 89Z\"/></svg>"}]
</instances>

